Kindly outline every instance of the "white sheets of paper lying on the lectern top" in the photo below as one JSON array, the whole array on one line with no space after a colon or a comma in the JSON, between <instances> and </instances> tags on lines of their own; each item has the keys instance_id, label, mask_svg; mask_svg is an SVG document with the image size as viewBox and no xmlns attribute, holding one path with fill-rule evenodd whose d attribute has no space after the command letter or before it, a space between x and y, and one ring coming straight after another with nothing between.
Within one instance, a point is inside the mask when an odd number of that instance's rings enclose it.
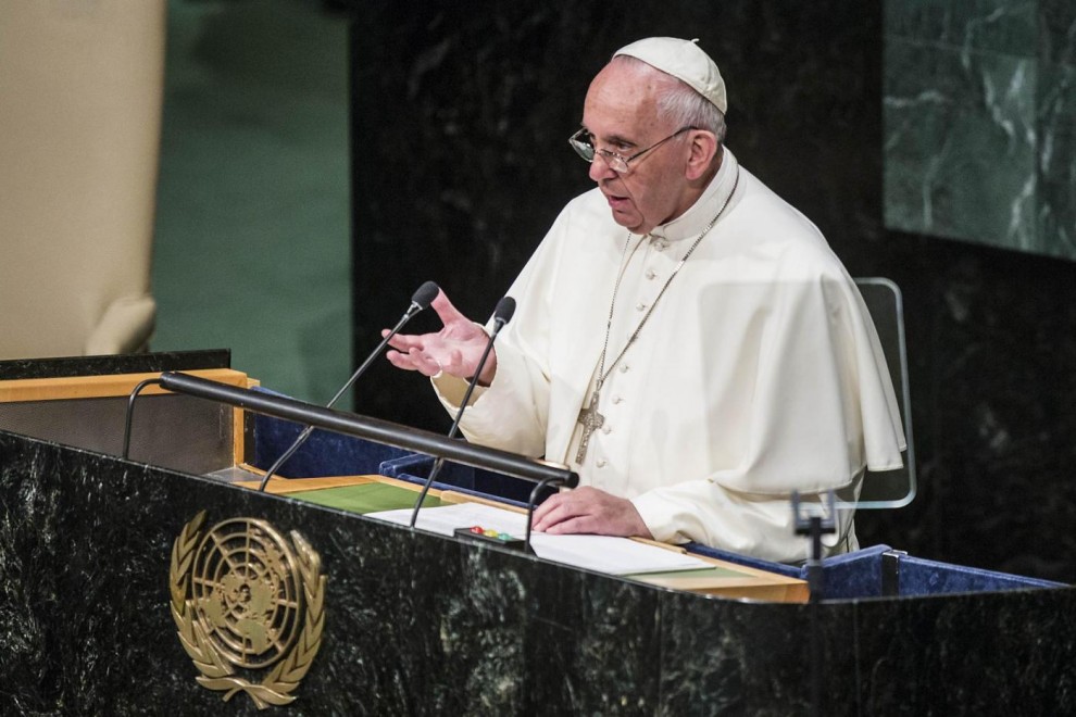
<instances>
[{"instance_id":1,"label":"white sheets of paper lying on the lectern top","mask_svg":"<svg viewBox=\"0 0 1076 717\"><path fill-rule=\"evenodd\" d=\"M411 513L411 508L403 508L370 513L367 517L410 525ZM522 539L527 532L527 516L481 503L458 503L423 508L418 511L418 519L415 521L416 528L442 536L452 536L456 528L472 526L481 526ZM710 567L705 561L677 551L612 536L551 536L535 532L530 536L530 546L542 559L610 575Z\"/></svg>"}]
</instances>

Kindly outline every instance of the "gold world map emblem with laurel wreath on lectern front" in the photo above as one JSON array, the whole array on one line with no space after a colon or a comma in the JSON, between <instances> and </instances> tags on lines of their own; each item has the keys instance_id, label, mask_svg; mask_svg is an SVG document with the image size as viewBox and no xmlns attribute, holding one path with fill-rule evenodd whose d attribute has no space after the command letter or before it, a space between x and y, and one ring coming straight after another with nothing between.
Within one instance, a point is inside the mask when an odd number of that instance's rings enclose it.
<instances>
[{"instance_id":1,"label":"gold world map emblem with laurel wreath on lectern front","mask_svg":"<svg viewBox=\"0 0 1076 717\"><path fill-rule=\"evenodd\" d=\"M322 643L321 557L298 532L289 544L265 520L234 518L203 532L204 521L202 511L184 526L168 575L172 617L198 682L225 701L246 692L259 709L289 704Z\"/></svg>"}]
</instances>

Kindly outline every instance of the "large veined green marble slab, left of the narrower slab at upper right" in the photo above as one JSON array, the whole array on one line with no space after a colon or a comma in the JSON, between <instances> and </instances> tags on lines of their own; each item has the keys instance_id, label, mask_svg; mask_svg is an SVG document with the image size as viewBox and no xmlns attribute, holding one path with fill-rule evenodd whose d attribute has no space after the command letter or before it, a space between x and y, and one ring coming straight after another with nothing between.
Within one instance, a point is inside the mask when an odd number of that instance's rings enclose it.
<instances>
[{"instance_id":1,"label":"large veined green marble slab, left of the narrower slab at upper right","mask_svg":"<svg viewBox=\"0 0 1076 717\"><path fill-rule=\"evenodd\" d=\"M885 61L886 224L1038 250L1036 63L908 40Z\"/></svg>"}]
</instances>

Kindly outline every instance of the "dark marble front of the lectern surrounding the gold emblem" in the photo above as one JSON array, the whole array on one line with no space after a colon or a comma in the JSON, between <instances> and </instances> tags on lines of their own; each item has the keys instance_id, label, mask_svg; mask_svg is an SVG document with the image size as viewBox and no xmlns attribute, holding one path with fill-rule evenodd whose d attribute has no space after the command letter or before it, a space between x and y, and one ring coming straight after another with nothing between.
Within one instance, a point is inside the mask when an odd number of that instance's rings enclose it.
<instances>
[{"instance_id":1,"label":"dark marble front of the lectern surrounding the gold emblem","mask_svg":"<svg viewBox=\"0 0 1076 717\"><path fill-rule=\"evenodd\" d=\"M322 556L323 643L286 714L810 714L811 619L826 714L1076 709L1076 589L718 600L4 432L0 709L254 714L195 682L168 609L202 510Z\"/></svg>"}]
</instances>

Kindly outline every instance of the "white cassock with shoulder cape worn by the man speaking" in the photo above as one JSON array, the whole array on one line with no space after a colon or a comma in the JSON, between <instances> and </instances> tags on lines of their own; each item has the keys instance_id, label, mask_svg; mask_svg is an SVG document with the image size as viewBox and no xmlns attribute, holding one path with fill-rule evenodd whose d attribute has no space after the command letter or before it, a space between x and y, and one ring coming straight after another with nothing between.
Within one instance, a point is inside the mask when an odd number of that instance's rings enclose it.
<instances>
[{"instance_id":1,"label":"white cassock with shoulder cape worn by the man speaking","mask_svg":"<svg viewBox=\"0 0 1076 717\"><path fill-rule=\"evenodd\" d=\"M622 273L604 423L577 463ZM508 293L515 316L463 433L572 465L580 485L629 499L660 541L801 561L810 545L793 531L792 491L854 500L865 468L902 465L900 414L859 290L818 229L727 149L699 201L648 236L615 224L597 189L577 197ZM434 385L454 413L466 383ZM858 546L851 512L838 518L829 554Z\"/></svg>"}]
</instances>

